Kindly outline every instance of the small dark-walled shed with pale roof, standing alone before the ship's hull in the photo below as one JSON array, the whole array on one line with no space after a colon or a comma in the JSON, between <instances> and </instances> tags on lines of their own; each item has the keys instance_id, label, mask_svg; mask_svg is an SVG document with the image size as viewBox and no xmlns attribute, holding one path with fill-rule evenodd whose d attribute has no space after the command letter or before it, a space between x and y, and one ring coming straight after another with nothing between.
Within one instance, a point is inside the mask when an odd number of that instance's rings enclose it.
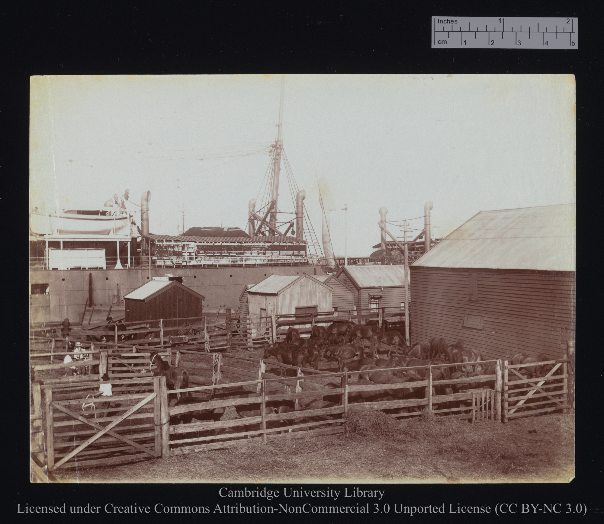
<instances>
[{"instance_id":1,"label":"small dark-walled shed with pale roof, standing alone before the ship's hull","mask_svg":"<svg viewBox=\"0 0 604 524\"><path fill-rule=\"evenodd\" d=\"M176 280L152 280L124 296L126 322L201 316L204 296ZM164 327L182 321L165 322Z\"/></svg>"}]
</instances>

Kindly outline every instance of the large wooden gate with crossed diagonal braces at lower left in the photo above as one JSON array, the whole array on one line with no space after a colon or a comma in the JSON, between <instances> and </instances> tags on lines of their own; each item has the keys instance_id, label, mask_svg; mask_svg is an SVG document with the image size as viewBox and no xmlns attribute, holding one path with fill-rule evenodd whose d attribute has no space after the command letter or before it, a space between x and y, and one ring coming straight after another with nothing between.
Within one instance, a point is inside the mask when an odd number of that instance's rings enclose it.
<instances>
[{"instance_id":1,"label":"large wooden gate with crossed diagonal braces at lower left","mask_svg":"<svg viewBox=\"0 0 604 524\"><path fill-rule=\"evenodd\" d=\"M57 395L62 397L58 400L53 398L53 388L45 389L48 471L161 456L160 400L165 377L110 383L124 386L130 382L132 388L140 388L141 382L146 382L153 391L85 398L72 393Z\"/></svg>"}]
</instances>

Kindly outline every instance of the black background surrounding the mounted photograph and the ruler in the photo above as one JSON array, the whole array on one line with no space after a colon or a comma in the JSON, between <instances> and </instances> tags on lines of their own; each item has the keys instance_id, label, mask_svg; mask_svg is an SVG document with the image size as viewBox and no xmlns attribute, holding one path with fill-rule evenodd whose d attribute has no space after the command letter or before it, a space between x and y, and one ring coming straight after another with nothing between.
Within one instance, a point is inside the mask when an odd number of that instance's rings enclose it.
<instances>
[{"instance_id":1,"label":"black background surrounding the mounted photograph and the ruler","mask_svg":"<svg viewBox=\"0 0 604 524\"><path fill-rule=\"evenodd\" d=\"M505 5L505 7L504 7ZM254 73L503 73L576 75L577 180L577 446L576 478L570 484L476 484L367 486L386 490L381 503L466 505L515 503L584 503L591 517L602 513L602 343L599 292L602 255L602 164L599 132L602 98L604 16L600 2L30 2L3 7L4 71L1 113L5 132L0 169L1 202L8 204L8 228L18 232L22 262L5 260L5 491L8 519L71 520L70 516L17 515L24 505L209 505L219 499L217 485L39 485L28 481L27 384L27 225L28 106L30 75L63 74L254 74ZM571 16L579 19L576 50L431 49L433 16ZM13 211L10 208L14 207ZM600 219L600 220L599 220ZM21 228L22 231L21 231ZM5 249L14 244L6 236ZM9 240L10 247L6 244ZM15 272L15 266L18 266ZM14 305L18 305L14 308ZM17 359L14 359L14 355ZM590 395L596 395L591 397ZM14 400L13 400L14 399ZM4 433L4 432L3 432ZM8 438L7 438L8 437ZM547 450L545 450L547 452ZM326 472L327 473L327 472ZM359 471L362 476L362 471ZM161 479L158 479L158 481ZM248 488L257 487L248 485ZM276 486L275 486L276 487ZM305 487L310 487L305 485ZM332 485L342 489L343 485ZM361 486L362 487L362 486ZM351 499L349 499L351 500ZM239 502L239 501L237 501ZM253 500L241 500L252 503ZM259 501L260 502L260 501ZM320 502L325 502L321 499ZM361 501L364 502L364 501ZM371 501L368 501L371 502ZM356 501L355 501L356 503ZM564 506L563 506L564 507ZM129 516L101 516L131 520ZM269 520L301 520L297 516ZM298 516L299 517L299 516ZM302 518L315 520L316 516ZM444 516L451 520L457 516ZM521 522L537 516L517 515ZM97 520L79 517L79 520ZM247 516L136 517L140 521L198 522ZM255 517L251 517L255 520ZM408 516L329 516L344 520L409 519ZM468 517L464 517L467 519ZM472 518L472 517L470 517ZM484 518L481 517L481 518ZM487 517L489 518L489 517ZM490 517L497 518L497 517ZM500 517L502 518L502 517ZM553 516L550 520L575 520ZM581 517L583 520L590 519ZM425 520L423 516L413 519ZM440 517L439 520L442 520Z\"/></svg>"}]
</instances>

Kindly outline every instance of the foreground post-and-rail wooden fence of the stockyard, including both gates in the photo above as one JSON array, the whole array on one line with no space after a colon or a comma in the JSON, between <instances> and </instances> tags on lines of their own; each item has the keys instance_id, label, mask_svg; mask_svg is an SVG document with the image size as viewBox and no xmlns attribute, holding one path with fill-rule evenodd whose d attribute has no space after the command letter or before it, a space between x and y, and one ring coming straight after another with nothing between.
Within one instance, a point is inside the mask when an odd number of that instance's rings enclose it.
<instances>
[{"instance_id":1,"label":"foreground post-and-rail wooden fence of the stockyard, including both gates","mask_svg":"<svg viewBox=\"0 0 604 524\"><path fill-rule=\"evenodd\" d=\"M481 365L495 365L492 375L433 380L434 368L455 368L459 364L428 364L370 371L423 370L422 380L369 384L352 381L352 372L300 369L269 361L269 365L283 371L291 370L294 375L280 377L266 372L266 362L262 359L239 354L164 352L165 360L187 369L190 375L189 387L178 392L213 393L209 400L200 398L199 403L170 407L168 394L173 392L167 391L164 377L152 377L148 352L118 354L101 350L97 353L100 372L108 371L111 379L111 397L99 396L99 375L34 383L30 415L32 481L51 481L52 471L57 468L170 458L200 450L245 445L255 437L266 442L345 433L348 430L345 415L351 407L384 411L394 418L416 417L422 409L427 409L472 422L478 418L507 422L510 418L542 412L567 412L570 407L567 399L568 359L537 363L551 365L552 369L533 379L525 379L518 369L535 366L535 363L509 365L507 361L493 360L481 362ZM189 360L193 354L198 362ZM249 363L248 368L237 364L236 360ZM36 366L46 365L33 367ZM470 387L453 394L435 394L435 388L439 386L460 384ZM472 389L472 386L477 388ZM414 398L400 394L393 400L400 389L419 390L420 394L414 394ZM405 396L408 398L400 398ZM388 398L379 400L380 397ZM275 404L283 402L291 403L293 409L275 412ZM443 407L448 403L460 405ZM553 405L543 407L544 404ZM241 406L245 406L243 409L251 416L233 417L233 409L239 407L241 410ZM230 420L190 424L170 421L170 417L175 421L177 415L187 412L219 407L230 409Z\"/></svg>"}]
</instances>

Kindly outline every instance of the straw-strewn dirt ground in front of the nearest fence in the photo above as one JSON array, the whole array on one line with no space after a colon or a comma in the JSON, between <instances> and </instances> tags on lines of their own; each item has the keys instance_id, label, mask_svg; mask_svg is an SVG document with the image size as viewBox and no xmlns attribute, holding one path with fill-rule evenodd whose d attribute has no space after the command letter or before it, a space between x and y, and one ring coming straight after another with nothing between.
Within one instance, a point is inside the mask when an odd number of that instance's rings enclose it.
<instances>
[{"instance_id":1,"label":"straw-strewn dirt ground in front of the nearest fence","mask_svg":"<svg viewBox=\"0 0 604 524\"><path fill-rule=\"evenodd\" d=\"M470 424L424 412L395 420L350 409L343 434L260 438L232 449L56 471L62 482L569 482L574 417Z\"/></svg>"}]
</instances>

